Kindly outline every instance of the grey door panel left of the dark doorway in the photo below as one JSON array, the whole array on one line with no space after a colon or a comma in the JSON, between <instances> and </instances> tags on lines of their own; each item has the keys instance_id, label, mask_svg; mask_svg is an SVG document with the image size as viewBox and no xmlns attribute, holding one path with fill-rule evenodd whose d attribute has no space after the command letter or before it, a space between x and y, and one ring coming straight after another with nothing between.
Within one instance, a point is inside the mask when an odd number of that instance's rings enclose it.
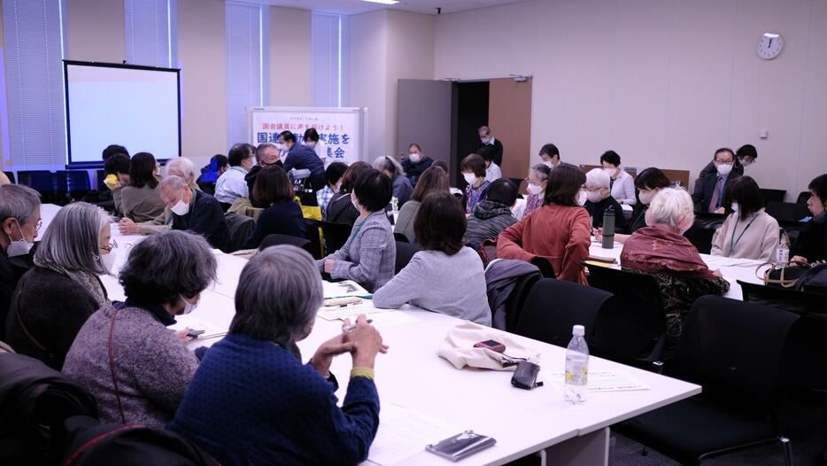
<instances>
[{"instance_id":1,"label":"grey door panel left of the dark doorway","mask_svg":"<svg viewBox=\"0 0 827 466\"><path fill-rule=\"evenodd\" d=\"M449 163L451 155L451 82L399 80L398 153L407 157L416 143L422 153Z\"/></svg>"}]
</instances>

